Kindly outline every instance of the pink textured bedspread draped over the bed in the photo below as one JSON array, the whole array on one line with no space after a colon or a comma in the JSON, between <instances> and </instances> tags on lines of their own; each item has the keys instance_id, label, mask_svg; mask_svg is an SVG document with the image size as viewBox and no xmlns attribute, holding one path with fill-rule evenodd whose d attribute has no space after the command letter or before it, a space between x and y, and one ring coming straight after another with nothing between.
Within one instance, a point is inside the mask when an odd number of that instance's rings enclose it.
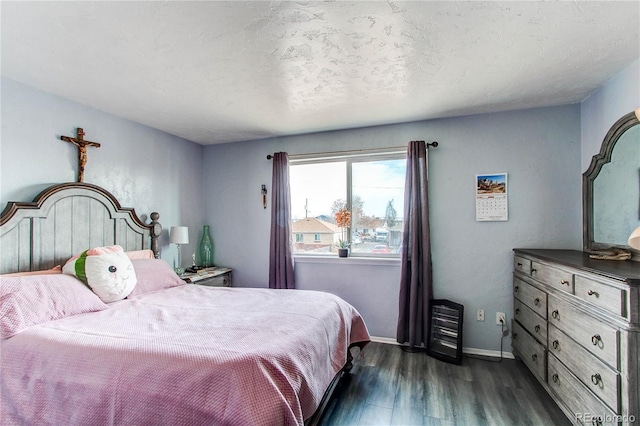
<instances>
[{"instance_id":1,"label":"pink textured bedspread draped over the bed","mask_svg":"<svg viewBox=\"0 0 640 426\"><path fill-rule=\"evenodd\" d=\"M174 287L3 340L0 423L301 424L368 340L327 293Z\"/></svg>"}]
</instances>

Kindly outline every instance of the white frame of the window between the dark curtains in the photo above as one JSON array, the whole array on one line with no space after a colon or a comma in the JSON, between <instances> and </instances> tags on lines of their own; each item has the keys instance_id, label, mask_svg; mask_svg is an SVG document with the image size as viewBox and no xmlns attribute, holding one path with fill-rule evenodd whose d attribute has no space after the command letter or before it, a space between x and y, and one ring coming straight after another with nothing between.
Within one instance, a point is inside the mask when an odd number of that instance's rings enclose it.
<instances>
[{"instance_id":1,"label":"white frame of the window between the dark curtains","mask_svg":"<svg viewBox=\"0 0 640 426\"><path fill-rule=\"evenodd\" d=\"M289 165L297 166L297 165L306 165L306 164L323 164L323 163L332 163L332 162L346 162L346 174L347 174L347 209L352 211L352 164L353 163L364 163L364 162L372 162L372 161L385 161L385 160L406 160L407 158L407 148L406 147L392 147L392 148L373 148L373 149L361 149L354 151L336 151L336 152L323 152L323 153L315 153L315 154L298 154L298 155L290 155L289 156ZM352 235L351 235L351 226L347 229L347 235L349 240L349 245L352 243ZM329 255L318 255L318 254L310 254L310 253L293 253L294 256L301 257L322 257L322 258L330 258L332 256ZM350 257L358 257L358 258L378 258L378 259L399 259L400 253L389 253L381 255L379 253L351 253Z\"/></svg>"}]
</instances>

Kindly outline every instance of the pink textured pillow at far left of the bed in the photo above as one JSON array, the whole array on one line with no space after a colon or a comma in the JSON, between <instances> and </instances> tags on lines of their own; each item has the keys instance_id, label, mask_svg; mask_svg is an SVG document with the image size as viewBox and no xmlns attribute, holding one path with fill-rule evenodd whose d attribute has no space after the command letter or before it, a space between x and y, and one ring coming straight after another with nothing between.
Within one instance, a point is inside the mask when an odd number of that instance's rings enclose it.
<instances>
[{"instance_id":1,"label":"pink textured pillow at far left of the bed","mask_svg":"<svg viewBox=\"0 0 640 426\"><path fill-rule=\"evenodd\" d=\"M0 278L0 337L37 324L106 309L75 277L65 274Z\"/></svg>"}]
</instances>

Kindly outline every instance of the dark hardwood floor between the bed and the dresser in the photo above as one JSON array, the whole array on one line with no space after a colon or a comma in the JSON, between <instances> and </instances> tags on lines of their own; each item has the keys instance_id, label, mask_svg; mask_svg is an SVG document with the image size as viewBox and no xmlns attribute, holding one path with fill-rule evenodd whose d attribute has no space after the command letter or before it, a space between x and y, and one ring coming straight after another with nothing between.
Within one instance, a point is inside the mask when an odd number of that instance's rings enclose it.
<instances>
[{"instance_id":1,"label":"dark hardwood floor between the bed and the dresser","mask_svg":"<svg viewBox=\"0 0 640 426\"><path fill-rule=\"evenodd\" d=\"M571 424L519 360L455 365L376 342L354 355L322 426Z\"/></svg>"}]
</instances>

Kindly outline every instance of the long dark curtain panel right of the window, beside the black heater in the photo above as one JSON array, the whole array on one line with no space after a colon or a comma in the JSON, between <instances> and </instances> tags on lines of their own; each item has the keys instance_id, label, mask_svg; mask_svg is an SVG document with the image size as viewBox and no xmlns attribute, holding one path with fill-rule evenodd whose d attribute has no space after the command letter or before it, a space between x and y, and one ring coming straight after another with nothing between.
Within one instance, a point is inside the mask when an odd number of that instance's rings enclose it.
<instances>
[{"instance_id":1,"label":"long dark curtain panel right of the window, beside the black heater","mask_svg":"<svg viewBox=\"0 0 640 426\"><path fill-rule=\"evenodd\" d=\"M404 193L404 235L400 278L400 310L396 340L427 346L430 302L433 298L427 146L412 141L407 150Z\"/></svg>"}]
</instances>

